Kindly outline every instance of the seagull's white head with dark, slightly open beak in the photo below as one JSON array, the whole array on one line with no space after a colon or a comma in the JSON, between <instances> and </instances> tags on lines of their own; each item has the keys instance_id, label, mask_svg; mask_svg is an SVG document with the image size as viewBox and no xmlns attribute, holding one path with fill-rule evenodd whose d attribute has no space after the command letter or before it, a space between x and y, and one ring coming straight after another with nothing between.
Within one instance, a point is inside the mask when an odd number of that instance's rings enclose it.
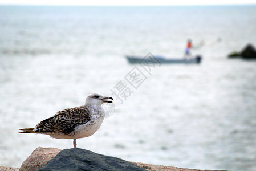
<instances>
[{"instance_id":1,"label":"seagull's white head with dark, slightly open beak","mask_svg":"<svg viewBox=\"0 0 256 171\"><path fill-rule=\"evenodd\" d=\"M101 105L103 103L113 103L112 100L112 97L104 97L97 93L94 93L86 98L86 105Z\"/></svg>"}]
</instances>

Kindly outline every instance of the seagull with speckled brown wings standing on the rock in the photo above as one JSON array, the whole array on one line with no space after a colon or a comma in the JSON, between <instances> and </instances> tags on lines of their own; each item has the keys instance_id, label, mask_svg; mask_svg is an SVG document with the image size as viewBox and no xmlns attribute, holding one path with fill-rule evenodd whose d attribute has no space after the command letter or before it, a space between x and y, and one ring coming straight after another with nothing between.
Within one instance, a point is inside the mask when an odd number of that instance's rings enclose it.
<instances>
[{"instance_id":1,"label":"seagull with speckled brown wings standing on the rock","mask_svg":"<svg viewBox=\"0 0 256 171\"><path fill-rule=\"evenodd\" d=\"M36 124L35 128L19 129L19 133L40 133L55 139L76 139L93 135L100 128L105 116L103 103L113 103L112 97L104 97L93 93L86 98L86 104L64 109Z\"/></svg>"}]
</instances>

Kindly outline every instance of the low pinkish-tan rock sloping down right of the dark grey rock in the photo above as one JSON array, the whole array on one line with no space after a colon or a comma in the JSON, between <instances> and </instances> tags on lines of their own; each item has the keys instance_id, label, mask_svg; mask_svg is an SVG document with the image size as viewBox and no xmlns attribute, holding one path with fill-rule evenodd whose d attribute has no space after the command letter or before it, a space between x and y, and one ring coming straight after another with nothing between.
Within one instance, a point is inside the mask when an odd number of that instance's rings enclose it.
<instances>
[{"instance_id":1,"label":"low pinkish-tan rock sloping down right of the dark grey rock","mask_svg":"<svg viewBox=\"0 0 256 171\"><path fill-rule=\"evenodd\" d=\"M137 166L140 166L140 168L143 168L145 170L150 170L150 171L160 171L160 170L161 171L206 171L206 170L198 170L198 169L176 168L173 166L151 165L151 164L145 164L142 162L132 162L132 163ZM221 170L207 170L207 171L221 171Z\"/></svg>"}]
</instances>

